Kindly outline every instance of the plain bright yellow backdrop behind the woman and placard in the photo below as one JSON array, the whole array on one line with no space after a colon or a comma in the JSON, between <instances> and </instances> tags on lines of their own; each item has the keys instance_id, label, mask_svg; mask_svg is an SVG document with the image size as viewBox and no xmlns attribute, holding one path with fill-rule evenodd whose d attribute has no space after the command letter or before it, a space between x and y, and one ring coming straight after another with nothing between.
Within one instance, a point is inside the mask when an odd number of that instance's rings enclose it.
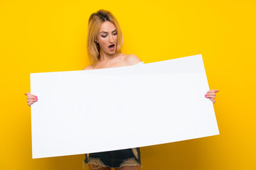
<instances>
[{"instance_id":1,"label":"plain bright yellow backdrop behind the woman and placard","mask_svg":"<svg viewBox=\"0 0 256 170\"><path fill-rule=\"evenodd\" d=\"M100 8L117 17L122 52L145 63L202 54L210 89L220 91L220 135L142 147L143 169L256 169L254 0L1 0L0 169L82 169L84 154L32 159L24 93L32 72L89 64L87 21Z\"/></svg>"}]
</instances>

